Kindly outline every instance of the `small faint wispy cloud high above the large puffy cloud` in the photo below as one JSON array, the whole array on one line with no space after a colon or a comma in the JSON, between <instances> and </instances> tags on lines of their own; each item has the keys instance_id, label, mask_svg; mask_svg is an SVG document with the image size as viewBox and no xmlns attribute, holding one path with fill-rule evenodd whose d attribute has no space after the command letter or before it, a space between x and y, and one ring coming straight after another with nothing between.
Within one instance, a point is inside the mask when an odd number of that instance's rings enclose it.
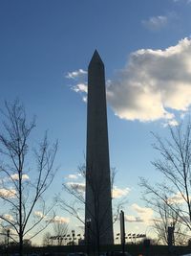
<instances>
[{"instance_id":1,"label":"small faint wispy cloud high above the large puffy cloud","mask_svg":"<svg viewBox=\"0 0 191 256\"><path fill-rule=\"evenodd\" d=\"M168 17L162 15L150 17L148 20L142 20L142 25L151 31L159 31L161 28L165 27L167 23Z\"/></svg>"}]
</instances>

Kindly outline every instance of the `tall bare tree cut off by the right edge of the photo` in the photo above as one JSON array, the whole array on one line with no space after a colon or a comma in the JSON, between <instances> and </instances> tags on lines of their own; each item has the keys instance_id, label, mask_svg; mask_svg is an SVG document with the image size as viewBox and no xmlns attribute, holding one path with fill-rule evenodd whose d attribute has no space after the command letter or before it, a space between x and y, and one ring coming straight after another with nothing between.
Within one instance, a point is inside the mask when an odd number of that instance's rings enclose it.
<instances>
[{"instance_id":1,"label":"tall bare tree cut off by the right edge of the photo","mask_svg":"<svg viewBox=\"0 0 191 256\"><path fill-rule=\"evenodd\" d=\"M151 185L141 177L139 185L144 189L143 199L160 217L176 219L186 230L191 231L191 124L169 127L170 139L161 139L153 134L156 143L154 149L159 151L159 159L152 162L164 181ZM165 207L165 208L164 208ZM164 231L165 232L165 231Z\"/></svg>"}]
</instances>

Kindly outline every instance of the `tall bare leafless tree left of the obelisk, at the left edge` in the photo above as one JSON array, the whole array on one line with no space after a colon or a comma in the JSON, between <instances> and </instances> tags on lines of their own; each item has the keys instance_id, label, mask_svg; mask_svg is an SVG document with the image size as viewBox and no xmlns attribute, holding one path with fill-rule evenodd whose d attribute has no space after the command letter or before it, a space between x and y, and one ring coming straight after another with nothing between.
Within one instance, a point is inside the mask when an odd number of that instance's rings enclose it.
<instances>
[{"instance_id":1,"label":"tall bare leafless tree left of the obelisk, at the left edge","mask_svg":"<svg viewBox=\"0 0 191 256\"><path fill-rule=\"evenodd\" d=\"M6 102L2 114L5 120L0 131L0 201L5 211L1 208L0 219L18 235L22 256L24 237L32 239L52 219L48 215L53 205L47 207L43 196L56 171L53 162L57 142L50 146L45 134L37 149L31 149L30 135L35 121L27 121L19 101Z\"/></svg>"}]
</instances>

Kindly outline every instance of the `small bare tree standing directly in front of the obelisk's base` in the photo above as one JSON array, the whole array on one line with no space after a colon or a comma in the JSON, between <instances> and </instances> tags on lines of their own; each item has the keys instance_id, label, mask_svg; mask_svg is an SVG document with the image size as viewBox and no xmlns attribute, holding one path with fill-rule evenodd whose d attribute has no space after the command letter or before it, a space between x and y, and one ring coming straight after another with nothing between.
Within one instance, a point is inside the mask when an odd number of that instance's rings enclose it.
<instances>
[{"instance_id":1,"label":"small bare tree standing directly in front of the obelisk's base","mask_svg":"<svg viewBox=\"0 0 191 256\"><path fill-rule=\"evenodd\" d=\"M101 173L101 172L100 172ZM99 178L99 183L96 183L96 181L92 180L91 176L86 175L86 167L84 165L80 166L78 168L78 174L85 179L86 177L86 184L87 182L90 184L90 189L91 193L94 197L94 207L92 209L87 209L88 210L88 215L91 219L91 224L89 225L89 231L86 230L86 232L90 232L90 236L93 237L93 239L96 241L96 249L97 252L99 251L99 237L104 235L104 232L107 231L107 228L110 227L105 227L104 229L101 228L101 225L103 226L103 221L104 218L107 218L107 212L109 205L105 205L105 214L103 214L101 220L98 218L98 208L100 207L99 201L100 198L103 197L104 195L104 190L105 190L105 180ZM114 179L116 175L116 170L112 170L112 175L111 175L111 185L112 185L112 191L113 191L113 185L114 185ZM100 182L102 180L102 182ZM67 211L70 213L74 218L76 218L78 221L82 222L85 225L85 217L84 217L84 210L85 210L85 182L82 183L72 183L72 184L63 184L64 190L71 195L74 200L72 201L66 201L63 198L59 197L58 201L60 202L60 206L63 210ZM125 203L125 200L118 201L115 205L114 209L114 214L113 214L113 223L117 221L118 215L120 212L120 209L122 205ZM96 224L96 229L92 228L93 222ZM96 232L95 232L96 230Z\"/></svg>"}]
</instances>

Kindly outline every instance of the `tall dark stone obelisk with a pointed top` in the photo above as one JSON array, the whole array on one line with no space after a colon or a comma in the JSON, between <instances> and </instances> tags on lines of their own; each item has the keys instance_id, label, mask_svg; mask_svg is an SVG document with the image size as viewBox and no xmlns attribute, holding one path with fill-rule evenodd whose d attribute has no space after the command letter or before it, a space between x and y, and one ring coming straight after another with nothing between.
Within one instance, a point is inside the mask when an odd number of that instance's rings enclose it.
<instances>
[{"instance_id":1,"label":"tall dark stone obelisk with a pointed top","mask_svg":"<svg viewBox=\"0 0 191 256\"><path fill-rule=\"evenodd\" d=\"M88 67L86 242L114 244L104 64L95 51Z\"/></svg>"}]
</instances>

